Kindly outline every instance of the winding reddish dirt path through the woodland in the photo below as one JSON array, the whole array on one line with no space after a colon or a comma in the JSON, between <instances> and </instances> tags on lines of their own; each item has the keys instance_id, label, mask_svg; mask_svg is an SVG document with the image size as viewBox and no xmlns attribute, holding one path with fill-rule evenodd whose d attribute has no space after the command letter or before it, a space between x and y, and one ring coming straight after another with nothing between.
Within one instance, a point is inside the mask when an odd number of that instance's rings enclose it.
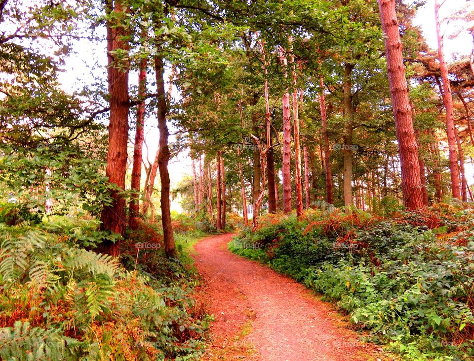
<instances>
[{"instance_id":1,"label":"winding reddish dirt path through the woodland","mask_svg":"<svg viewBox=\"0 0 474 361\"><path fill-rule=\"evenodd\" d=\"M233 234L202 239L193 255L214 315L203 360L386 361L303 285L231 253Z\"/></svg>"}]
</instances>

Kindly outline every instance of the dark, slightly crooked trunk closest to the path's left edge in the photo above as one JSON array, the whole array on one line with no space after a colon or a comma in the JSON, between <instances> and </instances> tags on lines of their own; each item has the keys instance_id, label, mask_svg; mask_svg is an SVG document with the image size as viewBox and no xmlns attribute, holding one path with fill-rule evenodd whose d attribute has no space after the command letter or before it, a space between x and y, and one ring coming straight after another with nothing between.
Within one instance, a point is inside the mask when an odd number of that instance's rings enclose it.
<instances>
[{"instance_id":1,"label":"dark, slightly crooked trunk closest to the path's left edge","mask_svg":"<svg viewBox=\"0 0 474 361\"><path fill-rule=\"evenodd\" d=\"M166 104L164 92L164 67L163 60L155 57L155 71L157 77L157 119L158 119L158 170L161 182L161 224L163 226L164 252L167 257L176 256L176 248L174 245L173 225L171 223L170 199L169 199L169 173L168 162L171 156L168 148L168 126L166 124L166 113L168 106Z\"/></svg>"}]
</instances>

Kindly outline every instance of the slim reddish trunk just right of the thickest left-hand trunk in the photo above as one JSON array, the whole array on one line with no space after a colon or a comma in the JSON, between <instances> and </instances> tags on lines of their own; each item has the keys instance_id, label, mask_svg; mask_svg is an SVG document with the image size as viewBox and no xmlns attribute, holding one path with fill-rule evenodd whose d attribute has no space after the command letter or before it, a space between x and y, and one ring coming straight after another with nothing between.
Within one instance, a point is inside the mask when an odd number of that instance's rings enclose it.
<instances>
[{"instance_id":1,"label":"slim reddish trunk just right of the thickest left-hand trunk","mask_svg":"<svg viewBox=\"0 0 474 361\"><path fill-rule=\"evenodd\" d=\"M128 226L135 230L138 226L138 213L140 207L140 183L142 178L142 158L143 158L143 127L145 125L145 95L147 92L147 60L140 60L138 72L138 98L137 105L137 126L135 130L135 147L133 149L133 166L131 177L131 190L134 191L130 201L130 215Z\"/></svg>"}]
</instances>

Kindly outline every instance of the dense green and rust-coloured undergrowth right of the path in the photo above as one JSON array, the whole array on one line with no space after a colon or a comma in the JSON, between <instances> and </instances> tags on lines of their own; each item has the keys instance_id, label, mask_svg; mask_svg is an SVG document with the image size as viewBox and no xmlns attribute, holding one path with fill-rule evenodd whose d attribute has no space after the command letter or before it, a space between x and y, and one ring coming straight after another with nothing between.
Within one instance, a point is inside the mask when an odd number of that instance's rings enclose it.
<instances>
[{"instance_id":1,"label":"dense green and rust-coloured undergrowth right of the path","mask_svg":"<svg viewBox=\"0 0 474 361\"><path fill-rule=\"evenodd\" d=\"M334 302L405 360L473 359L473 214L448 204L390 219L322 207L266 216L230 249Z\"/></svg>"}]
</instances>

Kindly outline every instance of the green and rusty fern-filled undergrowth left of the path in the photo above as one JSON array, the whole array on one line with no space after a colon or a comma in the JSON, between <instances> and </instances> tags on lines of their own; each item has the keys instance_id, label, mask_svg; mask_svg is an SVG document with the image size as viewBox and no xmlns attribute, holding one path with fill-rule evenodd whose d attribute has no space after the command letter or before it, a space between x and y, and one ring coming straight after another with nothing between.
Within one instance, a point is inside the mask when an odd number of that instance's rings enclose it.
<instances>
[{"instance_id":1,"label":"green and rusty fern-filled undergrowth left of the path","mask_svg":"<svg viewBox=\"0 0 474 361\"><path fill-rule=\"evenodd\" d=\"M93 251L111 235L85 215L0 223L0 359L198 359L208 319L196 275L136 246L161 244L158 233L141 224L118 260ZM178 234L182 249L199 233Z\"/></svg>"}]
</instances>

